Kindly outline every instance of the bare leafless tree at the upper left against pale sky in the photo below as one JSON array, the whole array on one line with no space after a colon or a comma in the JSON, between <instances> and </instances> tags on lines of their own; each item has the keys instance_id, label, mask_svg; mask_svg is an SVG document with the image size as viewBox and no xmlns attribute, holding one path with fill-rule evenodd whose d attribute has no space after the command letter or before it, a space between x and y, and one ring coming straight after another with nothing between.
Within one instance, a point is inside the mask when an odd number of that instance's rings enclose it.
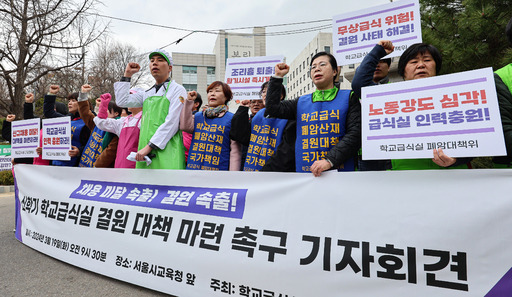
<instances>
[{"instance_id":1,"label":"bare leafless tree at the upper left against pale sky","mask_svg":"<svg viewBox=\"0 0 512 297\"><path fill-rule=\"evenodd\" d=\"M105 32L91 16L98 0L77 1L0 0L0 84L10 99L0 101L3 112L21 118L27 89L49 73L81 65L83 50ZM69 59L69 53L78 56Z\"/></svg>"}]
</instances>

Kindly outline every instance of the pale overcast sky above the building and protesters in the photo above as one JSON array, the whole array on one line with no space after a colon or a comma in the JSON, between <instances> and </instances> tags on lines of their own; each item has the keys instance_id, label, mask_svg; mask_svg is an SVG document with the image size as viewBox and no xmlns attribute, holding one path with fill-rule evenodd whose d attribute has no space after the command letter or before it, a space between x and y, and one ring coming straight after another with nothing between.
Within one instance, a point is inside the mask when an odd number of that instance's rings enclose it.
<instances>
[{"instance_id":1,"label":"pale overcast sky above the building and protesters","mask_svg":"<svg viewBox=\"0 0 512 297\"><path fill-rule=\"evenodd\" d=\"M331 19L334 15L389 3L389 0L260 0L260 1L163 1L102 0L98 13L162 26L189 30L217 30L267 26ZM159 28L121 20L110 22L110 36L123 44L131 44L140 52L150 52L168 45L189 32ZM332 22L267 28L267 33L329 25ZM322 32L331 32L324 29ZM250 33L252 30L228 32ZM267 56L284 55L292 61L314 38L318 30L308 33L267 36ZM212 54L215 34L193 33L179 44L165 47L168 52Z\"/></svg>"}]
</instances>

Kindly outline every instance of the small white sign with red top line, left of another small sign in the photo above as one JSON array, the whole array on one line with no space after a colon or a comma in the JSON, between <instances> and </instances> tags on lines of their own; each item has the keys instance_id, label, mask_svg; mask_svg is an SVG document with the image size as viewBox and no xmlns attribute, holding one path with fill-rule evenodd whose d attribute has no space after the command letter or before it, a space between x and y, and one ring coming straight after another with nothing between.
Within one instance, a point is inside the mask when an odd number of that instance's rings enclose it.
<instances>
[{"instance_id":1,"label":"small white sign with red top line, left of another small sign","mask_svg":"<svg viewBox=\"0 0 512 297\"><path fill-rule=\"evenodd\" d=\"M13 158L34 158L39 155L39 127L41 119L29 119L11 123L11 156Z\"/></svg>"}]
</instances>

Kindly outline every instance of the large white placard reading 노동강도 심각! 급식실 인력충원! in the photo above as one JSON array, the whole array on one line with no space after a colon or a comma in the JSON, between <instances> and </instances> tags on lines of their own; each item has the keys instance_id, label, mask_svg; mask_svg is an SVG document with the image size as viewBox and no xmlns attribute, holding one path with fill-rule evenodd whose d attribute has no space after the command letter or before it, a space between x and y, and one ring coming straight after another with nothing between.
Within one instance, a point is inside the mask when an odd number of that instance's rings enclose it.
<instances>
[{"instance_id":1,"label":"large white placard reading \ub178\ub3d9\uac15\ub3c4 \uc2ec\uac01! \uae09\uc2dd\uc2e4 \uc778\ub825\ucda9\uc6d0!","mask_svg":"<svg viewBox=\"0 0 512 297\"><path fill-rule=\"evenodd\" d=\"M363 160L506 155L492 68L362 89Z\"/></svg>"}]
</instances>

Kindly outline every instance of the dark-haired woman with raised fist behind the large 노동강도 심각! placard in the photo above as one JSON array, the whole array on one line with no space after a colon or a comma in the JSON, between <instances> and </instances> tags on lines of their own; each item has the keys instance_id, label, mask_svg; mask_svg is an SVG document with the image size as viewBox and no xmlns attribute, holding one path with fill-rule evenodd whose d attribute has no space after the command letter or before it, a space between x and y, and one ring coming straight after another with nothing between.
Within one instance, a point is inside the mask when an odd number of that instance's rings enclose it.
<instances>
[{"instance_id":1,"label":"dark-haired woman with raised fist behind the large \ub178\ub3d9\uac15\ub3c4 \uc2ec\uac01! placard","mask_svg":"<svg viewBox=\"0 0 512 297\"><path fill-rule=\"evenodd\" d=\"M394 51L393 43L389 40L381 40L366 55L359 66L352 81L352 89L358 97L361 97L361 88L375 85L373 75L377 63L386 55ZM404 80L414 80L433 77L439 74L442 66L442 57L439 50L426 43L416 43L404 51L398 61L398 74ZM421 170L449 168L468 168L471 158L451 158L442 149L433 150L432 159L404 159L391 160L392 170Z\"/></svg>"}]
</instances>

